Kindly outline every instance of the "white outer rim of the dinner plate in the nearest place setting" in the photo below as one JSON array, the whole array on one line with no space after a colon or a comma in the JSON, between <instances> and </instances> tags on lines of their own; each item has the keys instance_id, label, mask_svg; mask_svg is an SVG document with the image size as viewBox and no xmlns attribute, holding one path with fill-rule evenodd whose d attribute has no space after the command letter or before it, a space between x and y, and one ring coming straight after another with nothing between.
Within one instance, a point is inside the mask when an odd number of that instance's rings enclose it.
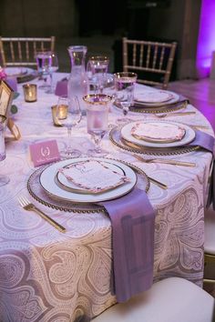
<instances>
[{"instance_id":1,"label":"white outer rim of the dinner plate in the nearest place setting","mask_svg":"<svg viewBox=\"0 0 215 322\"><path fill-rule=\"evenodd\" d=\"M131 178L131 182L125 185L118 186L113 190L101 193L99 194L99 196L91 195L91 194L85 195L85 194L72 193L72 192L63 190L59 186L56 186L55 177L59 167L67 166L68 164L79 162L80 160L88 160L88 159L89 157L78 157L74 159L59 161L59 162L56 162L55 164L47 166L39 176L40 186L42 186L42 188L50 196L59 198L61 200L76 202L76 203L97 203L97 202L112 200L112 199L118 198L119 196L124 196L128 194L128 192L130 192L134 188L134 186L136 186L138 181L138 176L135 173L135 171L131 169L131 167L125 165L124 163L121 163L119 160L114 160L114 159L105 158L105 157L93 157L93 159L104 160L104 161L108 161L110 163L112 162L113 164L119 165L125 171L126 176L129 176ZM50 174L52 176L50 176ZM51 186L51 191L50 191L50 184L54 185L55 190L53 190Z\"/></svg>"}]
</instances>

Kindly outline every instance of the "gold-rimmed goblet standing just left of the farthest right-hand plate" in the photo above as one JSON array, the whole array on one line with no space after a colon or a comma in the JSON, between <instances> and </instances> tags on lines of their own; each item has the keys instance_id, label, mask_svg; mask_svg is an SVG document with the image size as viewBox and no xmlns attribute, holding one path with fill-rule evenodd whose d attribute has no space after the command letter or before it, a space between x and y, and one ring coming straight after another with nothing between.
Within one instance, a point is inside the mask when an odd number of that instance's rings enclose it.
<instances>
[{"instance_id":1,"label":"gold-rimmed goblet standing just left of the farthest right-hand plate","mask_svg":"<svg viewBox=\"0 0 215 322\"><path fill-rule=\"evenodd\" d=\"M118 118L118 124L125 124L129 119L125 116L128 115L129 107L134 102L134 88L138 75L136 73L121 72L114 74L115 84L115 103L122 108L123 116Z\"/></svg>"}]
</instances>

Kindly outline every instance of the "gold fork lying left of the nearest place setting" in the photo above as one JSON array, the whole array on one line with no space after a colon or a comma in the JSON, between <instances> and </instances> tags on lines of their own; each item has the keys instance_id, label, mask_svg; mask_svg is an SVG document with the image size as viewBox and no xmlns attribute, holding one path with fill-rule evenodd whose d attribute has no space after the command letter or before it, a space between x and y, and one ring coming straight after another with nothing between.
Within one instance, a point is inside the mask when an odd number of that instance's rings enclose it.
<instances>
[{"instance_id":1,"label":"gold fork lying left of the nearest place setting","mask_svg":"<svg viewBox=\"0 0 215 322\"><path fill-rule=\"evenodd\" d=\"M37 208L34 204L32 204L26 196L18 196L18 202L20 206L22 206L26 210L33 210L36 212L37 215L41 216L43 219L45 219L49 224L56 227L57 230L61 231L62 233L66 232L66 228L64 226L61 226L58 224L54 219L52 219L50 216L47 216L42 210Z\"/></svg>"}]
</instances>

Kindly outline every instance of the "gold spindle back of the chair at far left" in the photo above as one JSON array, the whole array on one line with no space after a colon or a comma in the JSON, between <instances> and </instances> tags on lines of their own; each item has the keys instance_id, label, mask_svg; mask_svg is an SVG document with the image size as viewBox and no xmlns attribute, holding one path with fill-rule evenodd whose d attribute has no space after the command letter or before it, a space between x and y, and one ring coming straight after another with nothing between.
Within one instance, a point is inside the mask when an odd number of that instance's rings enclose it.
<instances>
[{"instance_id":1,"label":"gold spindle back of the chair at far left","mask_svg":"<svg viewBox=\"0 0 215 322\"><path fill-rule=\"evenodd\" d=\"M55 49L55 36L46 38L0 37L1 64L6 66L36 66L36 51Z\"/></svg>"}]
</instances>

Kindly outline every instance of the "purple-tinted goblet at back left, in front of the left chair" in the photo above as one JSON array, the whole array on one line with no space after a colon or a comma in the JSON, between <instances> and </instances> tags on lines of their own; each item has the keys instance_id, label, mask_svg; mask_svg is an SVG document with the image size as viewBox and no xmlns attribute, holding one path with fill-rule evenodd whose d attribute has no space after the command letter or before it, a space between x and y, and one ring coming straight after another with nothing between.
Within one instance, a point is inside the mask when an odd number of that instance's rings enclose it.
<instances>
[{"instance_id":1,"label":"purple-tinted goblet at back left, in front of the left chair","mask_svg":"<svg viewBox=\"0 0 215 322\"><path fill-rule=\"evenodd\" d=\"M37 72L43 80L43 84L38 86L43 89L50 89L50 85L47 83L48 75L50 75L50 65L51 65L51 51L50 50L40 50L36 52L36 66Z\"/></svg>"}]
</instances>

